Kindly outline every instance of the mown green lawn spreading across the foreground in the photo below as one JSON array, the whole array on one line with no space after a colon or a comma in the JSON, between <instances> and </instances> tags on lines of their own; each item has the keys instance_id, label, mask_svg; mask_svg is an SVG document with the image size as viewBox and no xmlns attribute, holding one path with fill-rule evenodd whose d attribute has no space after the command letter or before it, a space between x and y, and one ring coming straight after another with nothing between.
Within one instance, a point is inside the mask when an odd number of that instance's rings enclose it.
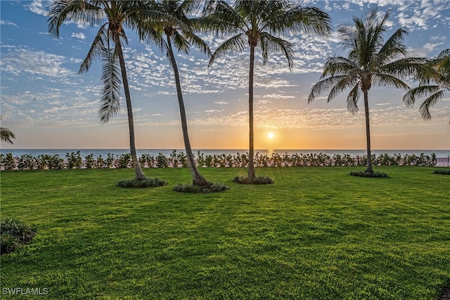
<instances>
[{"instance_id":1,"label":"mown green lawn spreading across the foreground","mask_svg":"<svg viewBox=\"0 0 450 300\"><path fill-rule=\"evenodd\" d=\"M361 167L360 167L361 168ZM450 177L433 168L200 169L219 194L120 189L131 169L1 172L1 219L37 229L1 256L6 288L46 299L437 299L450 284ZM25 298L25 296L24 296ZM26 296L25 299L30 299Z\"/></svg>"}]
</instances>

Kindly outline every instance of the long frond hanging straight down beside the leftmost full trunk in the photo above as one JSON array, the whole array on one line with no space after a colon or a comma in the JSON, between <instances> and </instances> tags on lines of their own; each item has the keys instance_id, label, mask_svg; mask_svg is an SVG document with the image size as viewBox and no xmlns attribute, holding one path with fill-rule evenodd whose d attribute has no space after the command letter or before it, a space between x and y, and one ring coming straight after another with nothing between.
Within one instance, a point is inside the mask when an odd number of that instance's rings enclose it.
<instances>
[{"instance_id":1,"label":"long frond hanging straight down beside the leftmost full trunk","mask_svg":"<svg viewBox=\"0 0 450 300\"><path fill-rule=\"evenodd\" d=\"M103 91L98 116L101 123L108 123L113 118L113 115L120 110L122 79L120 63L115 49L103 48L102 54L103 66L101 81L103 83Z\"/></svg>"}]
</instances>

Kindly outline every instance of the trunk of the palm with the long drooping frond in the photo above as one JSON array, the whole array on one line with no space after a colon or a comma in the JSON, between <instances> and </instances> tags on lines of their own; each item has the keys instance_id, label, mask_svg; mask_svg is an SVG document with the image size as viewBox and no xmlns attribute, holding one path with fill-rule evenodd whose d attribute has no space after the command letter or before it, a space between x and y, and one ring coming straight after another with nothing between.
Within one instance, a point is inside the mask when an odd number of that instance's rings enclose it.
<instances>
[{"instance_id":1,"label":"trunk of the palm with the long drooping frond","mask_svg":"<svg viewBox=\"0 0 450 300\"><path fill-rule=\"evenodd\" d=\"M129 94L127 70L125 68L124 54L122 52L122 44L120 43L120 37L117 32L113 34L115 48L119 55L120 70L122 71L122 82L124 84L125 100L127 102L128 113L128 128L129 128L129 150L131 152L131 158L133 159L134 179L144 180L146 175L143 174L141 165L139 164L138 156L136 154L136 145L134 144L134 122L133 122L133 108L131 107L131 96Z\"/></svg>"}]
</instances>

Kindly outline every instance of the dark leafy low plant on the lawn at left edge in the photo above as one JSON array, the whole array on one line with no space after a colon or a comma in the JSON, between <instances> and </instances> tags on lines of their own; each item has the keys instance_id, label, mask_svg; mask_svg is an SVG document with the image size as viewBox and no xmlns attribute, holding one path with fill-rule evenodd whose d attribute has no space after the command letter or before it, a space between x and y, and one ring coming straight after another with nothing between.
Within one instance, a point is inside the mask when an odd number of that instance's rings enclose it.
<instances>
[{"instance_id":1,"label":"dark leafy low plant on the lawn at left edge","mask_svg":"<svg viewBox=\"0 0 450 300\"><path fill-rule=\"evenodd\" d=\"M36 235L29 225L20 220L8 218L1 222L1 254L8 254L19 246L27 244Z\"/></svg>"}]
</instances>

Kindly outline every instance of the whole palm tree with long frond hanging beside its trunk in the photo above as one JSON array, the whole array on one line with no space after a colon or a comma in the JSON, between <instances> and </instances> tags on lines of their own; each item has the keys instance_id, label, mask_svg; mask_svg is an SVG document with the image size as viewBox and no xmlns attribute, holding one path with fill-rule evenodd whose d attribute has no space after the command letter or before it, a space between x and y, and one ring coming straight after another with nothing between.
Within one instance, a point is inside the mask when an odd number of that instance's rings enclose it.
<instances>
[{"instance_id":1,"label":"whole palm tree with long frond hanging beside its trunk","mask_svg":"<svg viewBox=\"0 0 450 300\"><path fill-rule=\"evenodd\" d=\"M49 12L49 32L59 37L59 28L65 20L77 23L89 23L98 26L99 30L91 44L91 49L79 68L84 73L91 67L94 59L103 59L103 94L99 117L101 123L108 123L120 109L120 87L123 85L127 103L129 144L133 160L135 180L144 180L141 165L136 154L134 143L133 110L125 68L122 42L128 44L124 26L139 30L139 20L145 11L142 1L94 1L94 0L57 0ZM113 42L115 48L110 46ZM118 63L117 63L118 58ZM121 75L121 76L120 76ZM122 78L120 78L122 77Z\"/></svg>"}]
</instances>

